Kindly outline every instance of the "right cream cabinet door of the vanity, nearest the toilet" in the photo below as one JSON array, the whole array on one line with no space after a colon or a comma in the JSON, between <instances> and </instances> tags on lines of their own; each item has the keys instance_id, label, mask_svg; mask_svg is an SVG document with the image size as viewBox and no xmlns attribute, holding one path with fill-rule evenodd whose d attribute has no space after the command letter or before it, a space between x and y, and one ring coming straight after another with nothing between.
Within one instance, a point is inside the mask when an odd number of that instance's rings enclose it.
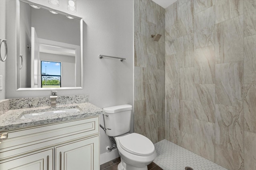
<instances>
[{"instance_id":1,"label":"right cream cabinet door of the vanity, nearest the toilet","mask_svg":"<svg viewBox=\"0 0 256 170\"><path fill-rule=\"evenodd\" d=\"M55 147L56 170L99 170L99 138Z\"/></svg>"}]
</instances>

